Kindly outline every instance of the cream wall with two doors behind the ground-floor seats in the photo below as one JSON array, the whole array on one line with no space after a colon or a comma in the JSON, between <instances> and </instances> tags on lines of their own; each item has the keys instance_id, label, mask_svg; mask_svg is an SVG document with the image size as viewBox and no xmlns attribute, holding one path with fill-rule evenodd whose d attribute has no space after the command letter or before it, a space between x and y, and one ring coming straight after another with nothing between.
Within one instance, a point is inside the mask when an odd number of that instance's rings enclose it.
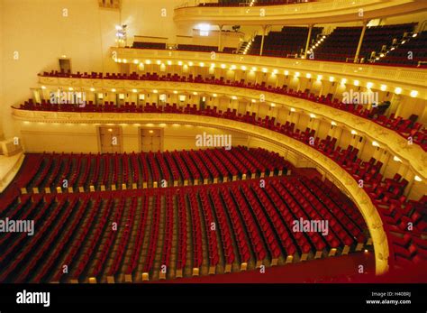
<instances>
[{"instance_id":1,"label":"cream wall with two doors behind the ground-floor seats","mask_svg":"<svg viewBox=\"0 0 427 313\"><path fill-rule=\"evenodd\" d=\"M99 152L97 127L100 124L45 124L20 122L25 152ZM105 125L105 124L103 124ZM110 125L110 124L106 124ZM113 124L111 124L113 125ZM140 151L141 127L163 128L163 149L168 151L199 149L195 135L231 134L232 145L247 145L248 136L237 132L186 124L119 124L123 130L123 152ZM120 138L119 138L120 141Z\"/></svg>"}]
</instances>

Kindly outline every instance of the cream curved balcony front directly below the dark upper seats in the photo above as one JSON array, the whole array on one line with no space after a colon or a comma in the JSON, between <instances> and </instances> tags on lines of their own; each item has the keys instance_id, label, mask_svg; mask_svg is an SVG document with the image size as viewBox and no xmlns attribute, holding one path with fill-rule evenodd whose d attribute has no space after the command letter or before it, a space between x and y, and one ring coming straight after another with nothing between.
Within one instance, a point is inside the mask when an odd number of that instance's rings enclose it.
<instances>
[{"instance_id":1,"label":"cream curved balcony front directly below the dark upper seats","mask_svg":"<svg viewBox=\"0 0 427 313\"><path fill-rule=\"evenodd\" d=\"M386 84L387 90L394 90L395 87L402 88L402 95L410 96L411 91L416 89L418 97L426 99L427 71L425 69L388 67L381 65L355 64L344 62L331 62L320 60L301 60L261 57L253 55L241 55L230 53L211 53L195 51L167 51L132 48L111 48L112 55L116 56L116 62L120 64L135 65L139 63L154 64L159 61L168 66L188 66L193 64L199 66L204 63L205 67L214 65L215 68L232 69L236 71L256 68L255 71L265 69L265 73L272 73L275 69L278 74L295 75L296 72L304 77L306 74L322 75L325 81L340 81L342 78L358 79L361 85L368 82L376 86ZM135 64L136 63L136 64ZM287 71L287 74L286 74Z\"/></svg>"}]
</instances>

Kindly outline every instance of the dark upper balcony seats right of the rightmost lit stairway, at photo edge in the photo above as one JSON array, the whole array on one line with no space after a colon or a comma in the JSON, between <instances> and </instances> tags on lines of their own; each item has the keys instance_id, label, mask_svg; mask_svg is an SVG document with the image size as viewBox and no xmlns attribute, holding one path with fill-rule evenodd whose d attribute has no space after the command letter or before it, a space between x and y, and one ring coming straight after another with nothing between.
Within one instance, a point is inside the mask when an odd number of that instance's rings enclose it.
<instances>
[{"instance_id":1,"label":"dark upper balcony seats right of the rightmost lit stairway, at photo edge","mask_svg":"<svg viewBox=\"0 0 427 313\"><path fill-rule=\"evenodd\" d=\"M376 61L378 64L404 64L417 67L427 66L427 31L414 33L415 37L408 36L400 44L388 47L384 58Z\"/></svg>"}]
</instances>

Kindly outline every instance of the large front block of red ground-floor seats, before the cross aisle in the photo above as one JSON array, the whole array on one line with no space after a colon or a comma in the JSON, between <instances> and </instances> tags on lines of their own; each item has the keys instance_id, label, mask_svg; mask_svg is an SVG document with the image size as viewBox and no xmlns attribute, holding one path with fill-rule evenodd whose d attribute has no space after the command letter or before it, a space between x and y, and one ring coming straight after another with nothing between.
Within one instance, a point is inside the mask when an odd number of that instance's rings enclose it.
<instances>
[{"instance_id":1,"label":"large front block of red ground-floor seats, before the cross aisle","mask_svg":"<svg viewBox=\"0 0 427 313\"><path fill-rule=\"evenodd\" d=\"M347 254L368 243L357 207L341 206L339 195L317 188L318 181L299 175L264 181L262 188L257 179L16 195L2 202L0 216L31 218L37 232L0 235L0 281L173 279ZM293 230L300 218L327 220L329 234Z\"/></svg>"}]
</instances>

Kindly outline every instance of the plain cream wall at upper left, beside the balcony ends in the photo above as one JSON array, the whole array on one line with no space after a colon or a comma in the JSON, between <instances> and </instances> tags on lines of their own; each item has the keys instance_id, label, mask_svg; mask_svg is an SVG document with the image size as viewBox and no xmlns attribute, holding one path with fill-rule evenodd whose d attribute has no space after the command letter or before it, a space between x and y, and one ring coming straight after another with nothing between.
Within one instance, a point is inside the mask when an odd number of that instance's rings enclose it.
<instances>
[{"instance_id":1,"label":"plain cream wall at upper left, beside the balcony ends","mask_svg":"<svg viewBox=\"0 0 427 313\"><path fill-rule=\"evenodd\" d=\"M174 37L179 29L173 23L173 10L180 3L123 0L120 13L100 9L96 0L0 1L0 130L3 124L6 136L17 133L10 106L32 97L30 87L36 86L37 74L59 69L59 57L70 58L73 71L118 71L109 55L115 45L115 25L121 19L129 25L129 41L135 34ZM161 16L162 8L166 17Z\"/></svg>"}]
</instances>

